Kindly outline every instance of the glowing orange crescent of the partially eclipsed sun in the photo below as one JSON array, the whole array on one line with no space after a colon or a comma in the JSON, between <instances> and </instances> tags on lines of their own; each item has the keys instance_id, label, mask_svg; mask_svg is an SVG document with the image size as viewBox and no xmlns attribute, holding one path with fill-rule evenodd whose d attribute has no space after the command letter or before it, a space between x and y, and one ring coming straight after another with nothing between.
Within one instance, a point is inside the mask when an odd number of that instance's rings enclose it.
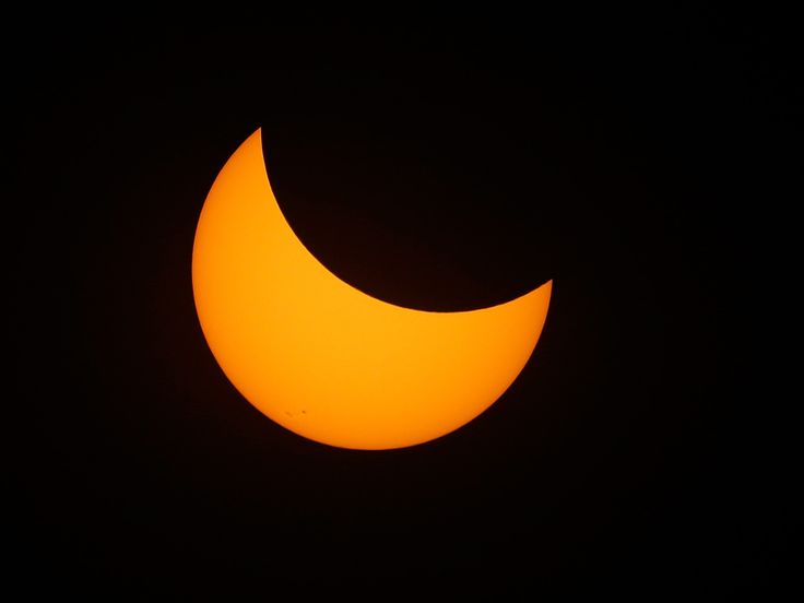
<instances>
[{"instance_id":1,"label":"glowing orange crescent of the partially eclipsed sun","mask_svg":"<svg viewBox=\"0 0 804 603\"><path fill-rule=\"evenodd\" d=\"M296 237L260 130L215 179L192 250L201 328L232 383L280 425L342 448L413 446L485 411L533 352L551 286L457 312L366 295Z\"/></svg>"}]
</instances>

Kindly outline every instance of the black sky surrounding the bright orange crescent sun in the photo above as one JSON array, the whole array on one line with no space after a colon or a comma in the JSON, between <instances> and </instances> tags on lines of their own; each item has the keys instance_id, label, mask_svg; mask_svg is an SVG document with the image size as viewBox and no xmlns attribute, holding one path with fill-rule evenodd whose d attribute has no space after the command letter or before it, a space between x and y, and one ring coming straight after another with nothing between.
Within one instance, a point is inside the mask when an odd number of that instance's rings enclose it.
<instances>
[{"instance_id":1,"label":"black sky surrounding the bright orange crescent sun","mask_svg":"<svg viewBox=\"0 0 804 603\"><path fill-rule=\"evenodd\" d=\"M10 570L32 593L785 582L790 477L744 352L793 167L784 15L69 16L4 43ZM531 362L486 413L341 450L226 380L191 248L258 127L292 226L360 289L457 310L554 280Z\"/></svg>"}]
</instances>

